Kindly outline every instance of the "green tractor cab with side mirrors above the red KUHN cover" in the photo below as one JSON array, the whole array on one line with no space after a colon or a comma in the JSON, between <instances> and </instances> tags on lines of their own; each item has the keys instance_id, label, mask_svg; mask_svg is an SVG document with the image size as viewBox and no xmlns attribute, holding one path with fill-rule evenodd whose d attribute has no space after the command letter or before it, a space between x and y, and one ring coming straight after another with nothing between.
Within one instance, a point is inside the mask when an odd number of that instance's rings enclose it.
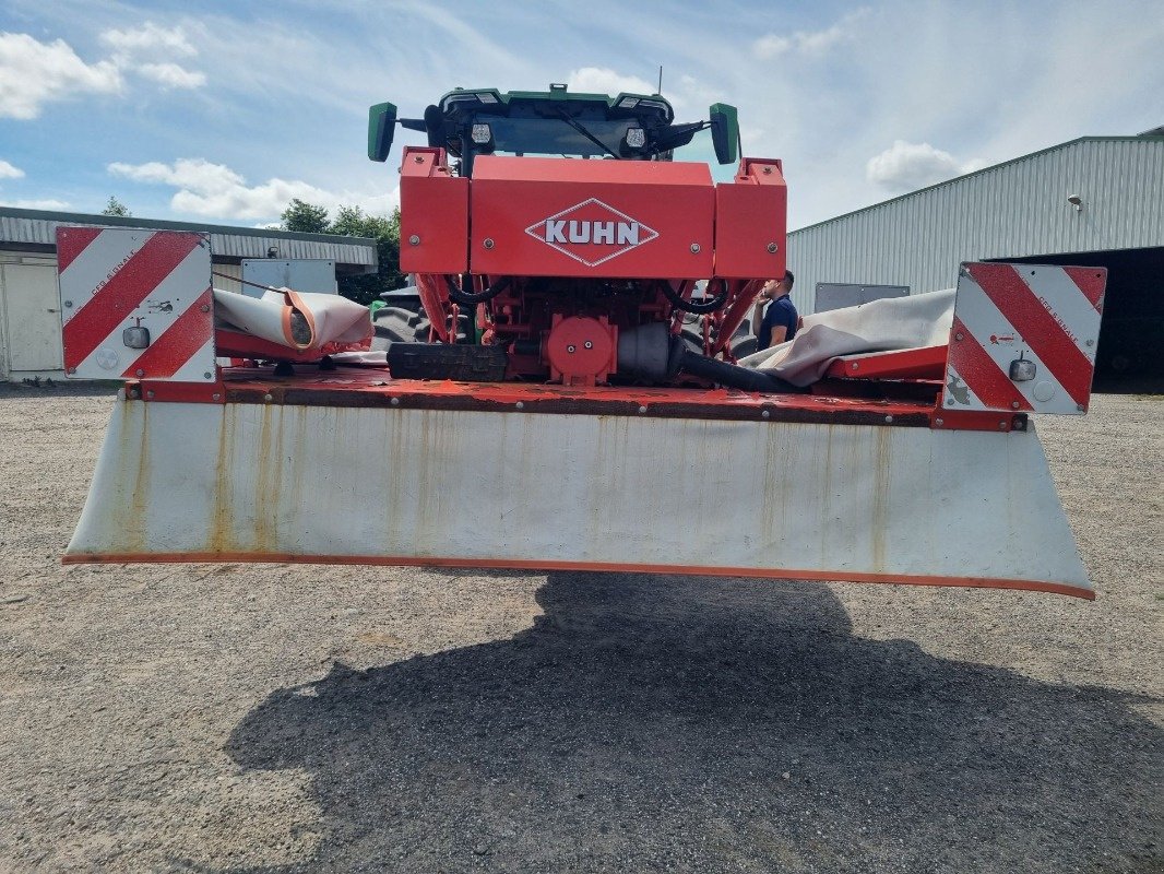
<instances>
[{"instance_id":1,"label":"green tractor cab with side mirrors above the red KUHN cover","mask_svg":"<svg viewBox=\"0 0 1164 874\"><path fill-rule=\"evenodd\" d=\"M377 104L369 113L368 157L385 161L395 125L424 132L428 145L460 160L459 175L471 176L477 155L669 161L696 133L711 128L719 163L734 163L736 110L716 104L709 121L675 124L670 104L659 94L569 93L456 89L425 110L423 119L397 119L396 106Z\"/></svg>"}]
</instances>

